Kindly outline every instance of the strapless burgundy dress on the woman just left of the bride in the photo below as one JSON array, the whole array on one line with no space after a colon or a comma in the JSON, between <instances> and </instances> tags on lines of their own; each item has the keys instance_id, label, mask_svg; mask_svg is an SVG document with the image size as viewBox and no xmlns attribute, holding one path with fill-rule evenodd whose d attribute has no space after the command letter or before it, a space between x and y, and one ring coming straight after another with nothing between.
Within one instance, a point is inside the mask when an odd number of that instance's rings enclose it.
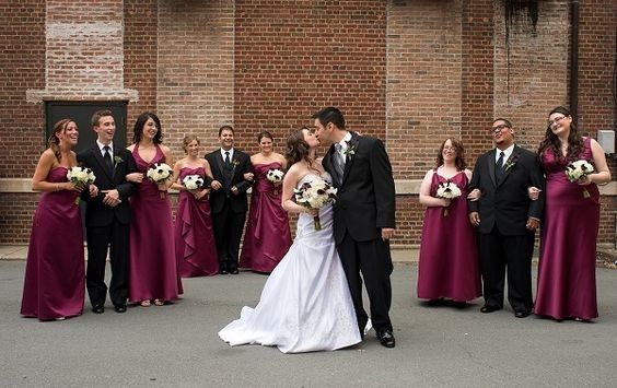
<instances>
[{"instance_id":1,"label":"strapless burgundy dress on the woman just left of the bride","mask_svg":"<svg viewBox=\"0 0 617 388\"><path fill-rule=\"evenodd\" d=\"M281 188L266 178L268 171L282 169L279 162L255 165L255 185L244 233L240 267L272 272L291 246L287 212L281 207Z\"/></svg>"}]
</instances>

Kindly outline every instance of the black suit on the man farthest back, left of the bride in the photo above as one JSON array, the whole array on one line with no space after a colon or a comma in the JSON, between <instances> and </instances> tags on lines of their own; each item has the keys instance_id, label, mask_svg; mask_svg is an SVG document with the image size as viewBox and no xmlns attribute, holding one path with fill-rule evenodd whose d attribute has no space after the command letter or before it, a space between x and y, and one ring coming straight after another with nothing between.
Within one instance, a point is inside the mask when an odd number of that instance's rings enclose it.
<instances>
[{"instance_id":1,"label":"black suit on the man farthest back, left of the bride","mask_svg":"<svg viewBox=\"0 0 617 388\"><path fill-rule=\"evenodd\" d=\"M220 149L207 154L206 160L210 163L214 179L223 186L219 190L210 191L210 209L219 263L221 271L233 271L237 269L240 240L248 209L246 190L252 185L251 181L244 179L244 174L253 172L253 165L251 157L237 149L233 150L230 164L224 163ZM231 191L234 186L237 195Z\"/></svg>"}]
</instances>

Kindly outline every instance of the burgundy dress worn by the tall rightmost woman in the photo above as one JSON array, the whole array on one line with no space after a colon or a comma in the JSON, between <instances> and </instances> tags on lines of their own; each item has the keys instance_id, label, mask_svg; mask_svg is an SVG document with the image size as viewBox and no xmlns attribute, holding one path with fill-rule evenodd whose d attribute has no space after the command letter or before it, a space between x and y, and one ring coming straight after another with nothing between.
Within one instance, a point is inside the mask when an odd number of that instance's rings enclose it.
<instances>
[{"instance_id":1,"label":"burgundy dress worn by the tall rightmost woman","mask_svg":"<svg viewBox=\"0 0 617 388\"><path fill-rule=\"evenodd\" d=\"M579 158L593 164L591 138ZM599 191L595 184L568 180L566 161L542 155L546 173L546 205L540 234L538 286L534 313L555 319L597 318L595 290ZM584 190L589 192L585 198Z\"/></svg>"}]
</instances>

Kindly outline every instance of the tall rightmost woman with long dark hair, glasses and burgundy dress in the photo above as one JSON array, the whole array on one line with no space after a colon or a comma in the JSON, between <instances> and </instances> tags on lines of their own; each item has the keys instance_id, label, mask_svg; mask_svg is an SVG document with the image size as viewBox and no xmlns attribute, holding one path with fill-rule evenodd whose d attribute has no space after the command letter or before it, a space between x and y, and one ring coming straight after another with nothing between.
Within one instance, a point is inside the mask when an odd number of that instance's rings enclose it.
<instances>
[{"instance_id":1,"label":"tall rightmost woman with long dark hair, glasses and burgundy dress","mask_svg":"<svg viewBox=\"0 0 617 388\"><path fill-rule=\"evenodd\" d=\"M534 313L557 320L597 318L595 286L596 239L599 225L597 185L610 181L602 146L583 138L572 115L558 106L538 149L546 173L546 207L540 233L540 259ZM568 180L570 162L586 160L594 174L580 183ZM538 190L531 189L532 199ZM572 244L572 242L577 242Z\"/></svg>"}]
</instances>

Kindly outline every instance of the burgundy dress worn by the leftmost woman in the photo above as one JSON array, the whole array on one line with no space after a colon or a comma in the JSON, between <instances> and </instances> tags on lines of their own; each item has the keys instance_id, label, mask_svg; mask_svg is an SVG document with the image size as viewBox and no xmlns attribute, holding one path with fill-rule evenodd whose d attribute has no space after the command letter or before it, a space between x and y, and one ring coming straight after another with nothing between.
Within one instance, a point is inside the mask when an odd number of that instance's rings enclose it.
<instances>
[{"instance_id":1,"label":"burgundy dress worn by the leftmost woman","mask_svg":"<svg viewBox=\"0 0 617 388\"><path fill-rule=\"evenodd\" d=\"M67 180L67 167L47 181ZM36 208L27 251L21 314L49 320L81 315L85 293L83 231L78 192L44 192Z\"/></svg>"}]
</instances>

